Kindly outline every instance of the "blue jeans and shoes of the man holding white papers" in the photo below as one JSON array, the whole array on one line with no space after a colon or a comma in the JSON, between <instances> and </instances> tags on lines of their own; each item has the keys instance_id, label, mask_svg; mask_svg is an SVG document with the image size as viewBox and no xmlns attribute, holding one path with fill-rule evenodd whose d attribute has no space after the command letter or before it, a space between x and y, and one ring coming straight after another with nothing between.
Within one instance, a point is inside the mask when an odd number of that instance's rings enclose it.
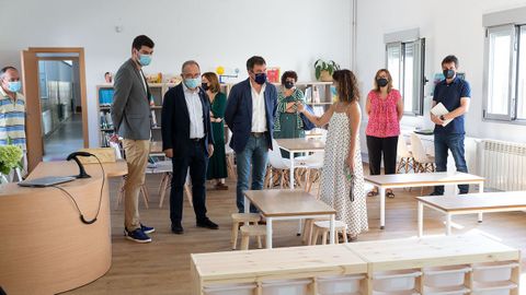
<instances>
[{"instance_id":1,"label":"blue jeans and shoes of the man holding white papers","mask_svg":"<svg viewBox=\"0 0 526 295\"><path fill-rule=\"evenodd\" d=\"M447 170L447 150L451 151L457 172L468 173L464 153L464 134L435 134L435 164L437 172ZM458 185L460 193L468 193L469 185ZM444 194L444 186L435 187L435 194Z\"/></svg>"}]
</instances>

